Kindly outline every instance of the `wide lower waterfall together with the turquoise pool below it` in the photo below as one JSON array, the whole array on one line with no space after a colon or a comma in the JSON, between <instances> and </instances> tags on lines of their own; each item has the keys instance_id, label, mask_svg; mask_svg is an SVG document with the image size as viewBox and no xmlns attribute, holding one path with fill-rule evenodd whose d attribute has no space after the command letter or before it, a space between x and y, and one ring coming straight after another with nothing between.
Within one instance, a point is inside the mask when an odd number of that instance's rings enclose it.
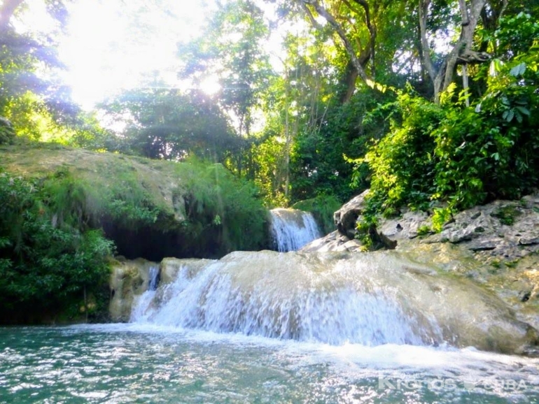
<instances>
[{"instance_id":1,"label":"wide lower waterfall together with the turquoise pool below it","mask_svg":"<svg viewBox=\"0 0 539 404\"><path fill-rule=\"evenodd\" d=\"M398 252L151 265L116 274L132 324L0 327L0 402L539 403L539 359L469 347L533 329Z\"/></svg>"}]
</instances>

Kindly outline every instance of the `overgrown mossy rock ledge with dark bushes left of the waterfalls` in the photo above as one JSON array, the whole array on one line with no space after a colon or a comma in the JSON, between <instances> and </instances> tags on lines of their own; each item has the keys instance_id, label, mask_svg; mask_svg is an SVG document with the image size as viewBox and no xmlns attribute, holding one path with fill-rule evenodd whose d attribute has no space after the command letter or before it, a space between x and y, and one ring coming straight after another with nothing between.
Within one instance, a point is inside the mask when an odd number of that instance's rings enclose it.
<instances>
[{"instance_id":1,"label":"overgrown mossy rock ledge with dark bushes left of the waterfalls","mask_svg":"<svg viewBox=\"0 0 539 404\"><path fill-rule=\"evenodd\" d=\"M116 247L129 258L159 260L267 243L257 189L220 164L32 143L1 153L0 307L10 314L0 322L99 313Z\"/></svg>"}]
</instances>

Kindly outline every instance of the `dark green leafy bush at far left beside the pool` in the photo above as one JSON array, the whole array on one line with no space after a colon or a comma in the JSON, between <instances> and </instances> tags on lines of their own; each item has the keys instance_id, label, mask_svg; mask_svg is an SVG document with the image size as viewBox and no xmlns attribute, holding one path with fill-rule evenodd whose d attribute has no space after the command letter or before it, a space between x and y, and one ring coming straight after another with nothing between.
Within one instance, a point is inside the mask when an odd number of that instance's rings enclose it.
<instances>
[{"instance_id":1,"label":"dark green leafy bush at far left beside the pool","mask_svg":"<svg viewBox=\"0 0 539 404\"><path fill-rule=\"evenodd\" d=\"M84 294L98 293L106 282L113 243L99 230L68 220L60 224L52 213L57 207L50 191L41 182L0 174L3 312L55 315L83 301Z\"/></svg>"}]
</instances>

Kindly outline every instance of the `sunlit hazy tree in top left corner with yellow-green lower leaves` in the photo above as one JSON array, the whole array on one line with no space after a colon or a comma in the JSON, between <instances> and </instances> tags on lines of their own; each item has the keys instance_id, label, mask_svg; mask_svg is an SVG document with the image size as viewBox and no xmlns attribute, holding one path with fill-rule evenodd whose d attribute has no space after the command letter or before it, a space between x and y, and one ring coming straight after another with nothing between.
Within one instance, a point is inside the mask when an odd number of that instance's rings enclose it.
<instances>
[{"instance_id":1,"label":"sunlit hazy tree in top left corner with yellow-green lower leaves","mask_svg":"<svg viewBox=\"0 0 539 404\"><path fill-rule=\"evenodd\" d=\"M55 76L62 68L55 49L57 33L20 34L11 27L23 5L24 1L6 0L0 6L0 116L9 118L19 134L41 138L45 127L62 131L75 126L80 108L71 101L70 89ZM63 27L64 2L45 5Z\"/></svg>"}]
</instances>

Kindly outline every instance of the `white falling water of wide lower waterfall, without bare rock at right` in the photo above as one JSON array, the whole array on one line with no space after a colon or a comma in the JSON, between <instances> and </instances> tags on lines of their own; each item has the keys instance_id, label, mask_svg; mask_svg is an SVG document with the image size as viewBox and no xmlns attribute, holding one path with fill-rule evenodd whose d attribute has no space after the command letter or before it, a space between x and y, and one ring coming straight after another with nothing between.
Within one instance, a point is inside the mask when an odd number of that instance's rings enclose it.
<instances>
[{"instance_id":1,"label":"white falling water of wide lower waterfall, without bare rock at right","mask_svg":"<svg viewBox=\"0 0 539 404\"><path fill-rule=\"evenodd\" d=\"M394 268L350 264L266 251L235 252L200 270L184 265L173 282L140 296L131 321L335 345L442 342L437 323L409 308L409 291L391 286Z\"/></svg>"}]
</instances>

